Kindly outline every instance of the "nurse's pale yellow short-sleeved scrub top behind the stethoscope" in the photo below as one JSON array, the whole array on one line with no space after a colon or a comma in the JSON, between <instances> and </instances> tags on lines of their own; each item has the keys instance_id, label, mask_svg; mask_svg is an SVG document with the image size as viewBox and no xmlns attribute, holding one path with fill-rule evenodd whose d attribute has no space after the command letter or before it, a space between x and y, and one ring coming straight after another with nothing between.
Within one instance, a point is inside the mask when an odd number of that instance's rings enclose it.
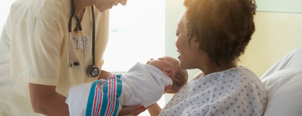
<instances>
[{"instance_id":1,"label":"nurse's pale yellow short-sleeved scrub top behind the stethoscope","mask_svg":"<svg viewBox=\"0 0 302 116\"><path fill-rule=\"evenodd\" d=\"M96 24L95 62L101 69L108 41L109 11L94 8ZM86 7L81 25L89 37L85 64L68 67L70 0L16 0L0 39L0 116L35 116L28 83L55 85L64 96L72 85L93 82L86 74L92 64L92 15ZM73 18L72 30L76 20ZM73 32L72 37L80 36ZM79 42L79 41L78 41ZM82 63L83 50L71 44L71 62Z\"/></svg>"}]
</instances>

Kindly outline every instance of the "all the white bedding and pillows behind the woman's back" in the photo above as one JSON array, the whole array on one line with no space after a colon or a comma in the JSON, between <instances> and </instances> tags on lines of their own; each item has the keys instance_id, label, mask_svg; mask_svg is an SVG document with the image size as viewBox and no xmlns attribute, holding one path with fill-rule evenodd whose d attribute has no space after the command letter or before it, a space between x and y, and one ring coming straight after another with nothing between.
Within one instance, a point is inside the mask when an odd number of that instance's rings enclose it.
<instances>
[{"instance_id":1,"label":"all the white bedding and pillows behind the woman's back","mask_svg":"<svg viewBox=\"0 0 302 116\"><path fill-rule=\"evenodd\" d=\"M287 53L260 79L266 91L263 116L302 116L302 48Z\"/></svg>"}]
</instances>

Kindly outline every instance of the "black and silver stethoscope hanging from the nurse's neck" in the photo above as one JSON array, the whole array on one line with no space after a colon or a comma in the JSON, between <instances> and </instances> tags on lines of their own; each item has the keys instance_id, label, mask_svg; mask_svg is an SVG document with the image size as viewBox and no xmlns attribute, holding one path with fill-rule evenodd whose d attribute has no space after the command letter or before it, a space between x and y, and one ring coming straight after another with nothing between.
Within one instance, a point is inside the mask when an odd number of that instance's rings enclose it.
<instances>
[{"instance_id":1,"label":"black and silver stethoscope hanging from the nurse's neck","mask_svg":"<svg viewBox=\"0 0 302 116\"><path fill-rule=\"evenodd\" d=\"M100 74L100 70L97 68L97 66L95 65L95 60L94 60L94 55L95 55L95 21L94 21L94 10L93 10L93 5L91 5L91 12L92 12L92 65L90 65L87 68L87 75L89 77L97 77ZM84 37L82 34L82 26L81 26L81 22L79 20L79 17L76 15L76 10L75 10L75 4L74 1L71 0L71 16L69 18L69 23L68 23L68 32L69 32L69 64L68 67L72 66L71 63L71 24L72 24L72 18L75 17L76 18L76 22L77 22L77 27L79 29L79 31L81 32L81 36L82 36L82 42L83 42L83 51L84 51L84 58L83 58L83 63L79 63L79 62L75 62L74 65L75 66L79 66L81 64L85 63L85 44L84 44Z\"/></svg>"}]
</instances>

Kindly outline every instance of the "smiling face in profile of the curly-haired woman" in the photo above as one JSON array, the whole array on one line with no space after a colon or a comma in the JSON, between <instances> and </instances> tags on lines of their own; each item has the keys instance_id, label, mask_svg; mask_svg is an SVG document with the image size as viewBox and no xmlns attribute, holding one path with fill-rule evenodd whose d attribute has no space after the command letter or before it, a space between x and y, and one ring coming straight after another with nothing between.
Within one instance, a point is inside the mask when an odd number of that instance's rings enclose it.
<instances>
[{"instance_id":1,"label":"smiling face in profile of the curly-haired woman","mask_svg":"<svg viewBox=\"0 0 302 116\"><path fill-rule=\"evenodd\" d=\"M196 69L200 65L198 61L201 59L201 54L199 50L199 44L195 43L195 37L190 41L191 48L187 39L187 31L184 26L184 13L181 14L181 17L177 23L176 30L176 40L174 42L177 52L179 55L177 58L180 63L179 66L181 69Z\"/></svg>"}]
</instances>

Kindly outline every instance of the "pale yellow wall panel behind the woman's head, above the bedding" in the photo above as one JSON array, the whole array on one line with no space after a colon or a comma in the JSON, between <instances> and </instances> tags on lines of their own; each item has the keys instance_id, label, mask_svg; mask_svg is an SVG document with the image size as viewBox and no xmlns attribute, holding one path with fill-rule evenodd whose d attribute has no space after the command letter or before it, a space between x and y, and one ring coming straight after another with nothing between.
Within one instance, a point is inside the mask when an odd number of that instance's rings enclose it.
<instances>
[{"instance_id":1,"label":"pale yellow wall panel behind the woman's head, above the bedding","mask_svg":"<svg viewBox=\"0 0 302 116\"><path fill-rule=\"evenodd\" d=\"M257 12L254 21L256 31L239 65L260 77L290 50L302 47L302 14Z\"/></svg>"}]
</instances>

